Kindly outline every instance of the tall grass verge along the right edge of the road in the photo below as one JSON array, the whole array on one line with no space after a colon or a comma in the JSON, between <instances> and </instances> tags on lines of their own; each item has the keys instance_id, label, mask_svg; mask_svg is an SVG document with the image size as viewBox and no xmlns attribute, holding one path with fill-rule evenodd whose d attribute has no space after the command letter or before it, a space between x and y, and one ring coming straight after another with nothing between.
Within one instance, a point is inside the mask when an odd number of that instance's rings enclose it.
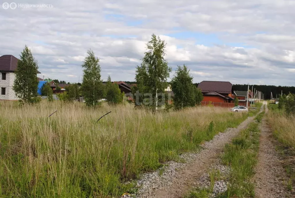
<instances>
[{"instance_id":1,"label":"tall grass verge along the right edge of the road","mask_svg":"<svg viewBox=\"0 0 295 198\"><path fill-rule=\"evenodd\" d=\"M293 190L295 184L295 116L288 116L278 105L269 104L268 122L274 137L278 140L277 149L284 159L284 168L289 176L287 187Z\"/></svg>"}]
</instances>

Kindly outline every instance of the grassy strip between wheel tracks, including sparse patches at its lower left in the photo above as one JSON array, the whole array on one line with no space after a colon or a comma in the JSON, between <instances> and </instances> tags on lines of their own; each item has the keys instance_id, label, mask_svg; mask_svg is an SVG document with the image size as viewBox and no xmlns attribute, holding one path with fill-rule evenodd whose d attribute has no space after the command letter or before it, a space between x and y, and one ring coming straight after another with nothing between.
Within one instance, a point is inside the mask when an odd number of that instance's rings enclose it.
<instances>
[{"instance_id":1,"label":"grassy strip between wheel tracks, including sparse patches at its lower left","mask_svg":"<svg viewBox=\"0 0 295 198\"><path fill-rule=\"evenodd\" d=\"M260 113L257 117L262 117L263 114ZM229 175L221 176L218 171L210 172L211 186L194 189L187 197L210 197L215 181L220 179L227 180L227 191L218 194L217 197L254 197L254 184L251 178L254 174L259 149L260 129L258 126L258 123L250 123L247 129L240 131L239 135L232 139L232 143L225 145L221 160L224 165L230 167Z\"/></svg>"}]
</instances>

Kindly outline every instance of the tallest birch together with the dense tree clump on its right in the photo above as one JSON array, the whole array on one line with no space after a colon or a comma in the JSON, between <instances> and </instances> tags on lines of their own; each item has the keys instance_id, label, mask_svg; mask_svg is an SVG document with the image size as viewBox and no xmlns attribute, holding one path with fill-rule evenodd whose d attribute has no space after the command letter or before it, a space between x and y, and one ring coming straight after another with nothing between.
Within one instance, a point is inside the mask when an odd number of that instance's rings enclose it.
<instances>
[{"instance_id":1,"label":"tallest birch together with the dense tree clump on its right","mask_svg":"<svg viewBox=\"0 0 295 198\"><path fill-rule=\"evenodd\" d=\"M146 44L146 48L147 52L145 52L142 63L136 68L135 80L137 86L132 87L132 95L136 97L135 105L145 105L157 110L159 106L163 106L166 102L164 100L168 100L165 88L168 87L167 79L172 68L168 66L168 62L164 59L166 54L164 40L153 34L151 40ZM201 90L194 86L193 77L189 74L189 71L185 65L178 66L171 81L171 88L174 93L173 105L176 109L195 106L203 100Z\"/></svg>"}]
</instances>

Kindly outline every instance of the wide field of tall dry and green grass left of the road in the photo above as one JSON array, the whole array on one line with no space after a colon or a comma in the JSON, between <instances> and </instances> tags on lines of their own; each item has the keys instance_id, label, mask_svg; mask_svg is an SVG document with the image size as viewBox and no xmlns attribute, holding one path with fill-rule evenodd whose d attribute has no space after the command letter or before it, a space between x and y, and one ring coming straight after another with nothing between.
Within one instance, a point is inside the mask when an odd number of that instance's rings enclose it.
<instances>
[{"instance_id":1,"label":"wide field of tall dry and green grass left of the road","mask_svg":"<svg viewBox=\"0 0 295 198\"><path fill-rule=\"evenodd\" d=\"M0 105L0 197L118 196L131 187L124 181L178 160L248 116L210 107L152 113L59 101Z\"/></svg>"}]
</instances>

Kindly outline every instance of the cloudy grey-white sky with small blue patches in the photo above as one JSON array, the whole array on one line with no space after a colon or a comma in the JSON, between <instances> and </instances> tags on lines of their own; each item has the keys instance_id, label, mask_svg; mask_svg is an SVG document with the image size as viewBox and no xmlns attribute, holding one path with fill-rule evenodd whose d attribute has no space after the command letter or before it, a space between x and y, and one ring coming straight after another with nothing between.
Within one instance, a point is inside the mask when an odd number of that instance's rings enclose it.
<instances>
[{"instance_id":1,"label":"cloudy grey-white sky with small blue patches","mask_svg":"<svg viewBox=\"0 0 295 198\"><path fill-rule=\"evenodd\" d=\"M4 9L14 2L15 9ZM133 81L152 33L194 82L295 85L294 0L0 1L0 55L28 45L40 76L80 82L90 48L106 80ZM50 4L25 8L26 4ZM23 5L23 8L22 8ZM7 8L7 7L5 7ZM173 77L173 73L171 73Z\"/></svg>"}]
</instances>

